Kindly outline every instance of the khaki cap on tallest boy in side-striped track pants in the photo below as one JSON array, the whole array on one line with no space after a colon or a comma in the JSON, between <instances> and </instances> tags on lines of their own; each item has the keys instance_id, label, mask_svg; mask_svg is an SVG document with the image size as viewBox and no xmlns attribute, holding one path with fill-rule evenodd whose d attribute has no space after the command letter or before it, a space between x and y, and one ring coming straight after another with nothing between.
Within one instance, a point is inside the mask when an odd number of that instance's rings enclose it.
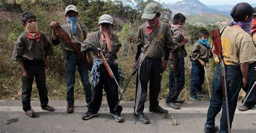
<instances>
[{"instance_id":1,"label":"khaki cap on tallest boy in side-striped track pants","mask_svg":"<svg viewBox=\"0 0 256 133\"><path fill-rule=\"evenodd\" d=\"M160 12L160 6L157 3L149 3L146 5L142 14L142 19L153 19Z\"/></svg>"}]
</instances>

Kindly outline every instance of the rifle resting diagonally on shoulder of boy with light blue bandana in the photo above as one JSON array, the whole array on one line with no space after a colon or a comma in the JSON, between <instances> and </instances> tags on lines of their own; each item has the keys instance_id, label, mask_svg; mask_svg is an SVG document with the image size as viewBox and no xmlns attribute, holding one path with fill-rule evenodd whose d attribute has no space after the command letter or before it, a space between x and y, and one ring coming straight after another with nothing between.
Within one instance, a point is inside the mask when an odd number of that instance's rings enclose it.
<instances>
[{"instance_id":1,"label":"rifle resting diagonally on shoulder of boy with light blue bandana","mask_svg":"<svg viewBox=\"0 0 256 133\"><path fill-rule=\"evenodd\" d=\"M91 71L92 63L89 63L87 61L87 58L81 53L81 50L77 47L77 44L71 41L71 38L69 37L69 35L66 34L64 29L59 24L57 24L56 26L51 26L51 29L55 31L61 38L63 38L66 41L66 43L69 43L76 50L78 56L86 65L87 69ZM89 55L89 57L92 57L91 53L89 52L87 52L87 55Z\"/></svg>"}]
</instances>

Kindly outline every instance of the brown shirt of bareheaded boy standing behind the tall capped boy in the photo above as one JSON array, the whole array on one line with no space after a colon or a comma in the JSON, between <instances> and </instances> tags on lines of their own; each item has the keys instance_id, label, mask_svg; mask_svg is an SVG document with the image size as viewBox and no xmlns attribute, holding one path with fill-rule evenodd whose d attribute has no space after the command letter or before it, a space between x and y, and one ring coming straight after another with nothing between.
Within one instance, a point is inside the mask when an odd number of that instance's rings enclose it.
<instances>
[{"instance_id":1,"label":"brown shirt of bareheaded boy standing behind the tall capped boy","mask_svg":"<svg viewBox=\"0 0 256 133\"><path fill-rule=\"evenodd\" d=\"M174 42L174 51L176 52L178 59L186 57L187 51L184 47L179 48L179 43L183 41L184 36L181 34L181 32L175 28L171 27L172 33L173 33L173 42ZM169 59L172 60L172 54L170 53Z\"/></svg>"}]
</instances>

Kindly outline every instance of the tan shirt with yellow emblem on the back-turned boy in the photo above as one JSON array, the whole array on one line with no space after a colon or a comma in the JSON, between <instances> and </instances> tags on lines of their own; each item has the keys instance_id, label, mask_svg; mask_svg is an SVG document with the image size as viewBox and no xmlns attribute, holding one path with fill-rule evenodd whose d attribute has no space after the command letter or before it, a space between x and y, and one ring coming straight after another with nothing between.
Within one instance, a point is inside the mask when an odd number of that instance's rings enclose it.
<instances>
[{"instance_id":1,"label":"tan shirt with yellow emblem on the back-turned boy","mask_svg":"<svg viewBox=\"0 0 256 133\"><path fill-rule=\"evenodd\" d=\"M227 26L221 35L221 48L226 65L256 61L252 38L244 29ZM215 61L219 62L218 57Z\"/></svg>"}]
</instances>

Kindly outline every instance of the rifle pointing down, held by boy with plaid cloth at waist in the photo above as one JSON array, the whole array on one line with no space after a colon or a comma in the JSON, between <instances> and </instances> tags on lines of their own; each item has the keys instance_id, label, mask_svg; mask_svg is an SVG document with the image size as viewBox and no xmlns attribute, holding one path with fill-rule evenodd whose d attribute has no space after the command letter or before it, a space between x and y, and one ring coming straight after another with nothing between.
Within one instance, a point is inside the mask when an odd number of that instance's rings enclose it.
<instances>
[{"instance_id":1,"label":"rifle pointing down, held by boy with plaid cloth at waist","mask_svg":"<svg viewBox=\"0 0 256 133\"><path fill-rule=\"evenodd\" d=\"M114 81L115 81L116 84L117 84L117 87L119 88L121 94L122 94L123 97L124 97L123 90L120 88L120 86L119 86L119 84L118 84L118 82L117 82L116 77L114 77L114 73L113 73L113 71L111 70L109 64L107 63L106 58L104 57L102 51L99 51L99 58L102 60L102 62L103 62L103 64L104 64L104 66L105 66L107 72L109 73L109 76L114 79ZM125 99L125 101L127 101L125 97L124 97L124 99Z\"/></svg>"}]
</instances>

